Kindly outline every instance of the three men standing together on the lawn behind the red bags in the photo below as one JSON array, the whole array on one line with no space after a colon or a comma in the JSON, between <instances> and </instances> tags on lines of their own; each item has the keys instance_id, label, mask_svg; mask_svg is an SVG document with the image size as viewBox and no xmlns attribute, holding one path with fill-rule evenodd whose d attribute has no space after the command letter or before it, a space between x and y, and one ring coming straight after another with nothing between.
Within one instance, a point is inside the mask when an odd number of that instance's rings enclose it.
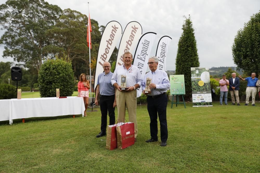
<instances>
[{"instance_id":1,"label":"three men standing together on the lawn behind the red bags","mask_svg":"<svg viewBox=\"0 0 260 173\"><path fill-rule=\"evenodd\" d=\"M168 138L167 121L166 121L166 107L167 107L167 89L170 89L170 81L167 73L159 70L158 58L151 57L148 60L150 72L148 72L142 79L139 68L132 65L133 55L130 52L126 52L123 55L123 65L115 68L114 73L110 72L110 63L104 62L104 72L99 74L97 79L97 89L95 104L100 105L101 110L101 132L96 137L106 135L107 127L107 113L109 116L109 125L115 123L115 106L118 110L118 122L125 122L126 108L128 112L128 118L130 122L134 123L134 138L136 141L138 128L136 121L136 100L137 89L145 89L145 79L151 78L151 93L147 95L147 110L150 116L150 133L151 138L146 142L158 141L158 123L157 117L160 121L161 131L161 146L166 146ZM122 90L121 87L121 75L126 77L126 89ZM98 96L100 99L98 102Z\"/></svg>"}]
</instances>

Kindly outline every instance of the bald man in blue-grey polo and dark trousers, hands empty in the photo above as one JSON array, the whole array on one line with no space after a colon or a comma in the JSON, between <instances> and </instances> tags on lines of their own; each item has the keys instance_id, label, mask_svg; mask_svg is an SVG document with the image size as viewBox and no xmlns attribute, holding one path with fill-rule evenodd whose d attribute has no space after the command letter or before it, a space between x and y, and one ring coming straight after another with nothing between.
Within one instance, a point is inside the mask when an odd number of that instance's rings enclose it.
<instances>
[{"instance_id":1,"label":"bald man in blue-grey polo and dark trousers, hands empty","mask_svg":"<svg viewBox=\"0 0 260 173\"><path fill-rule=\"evenodd\" d=\"M107 112L109 116L109 125L115 123L115 88L111 84L113 73L110 72L111 66L109 62L103 63L104 72L97 77L97 89L95 104L98 105L97 97L100 95L99 104L101 110L101 132L96 137L106 135L107 128Z\"/></svg>"}]
</instances>

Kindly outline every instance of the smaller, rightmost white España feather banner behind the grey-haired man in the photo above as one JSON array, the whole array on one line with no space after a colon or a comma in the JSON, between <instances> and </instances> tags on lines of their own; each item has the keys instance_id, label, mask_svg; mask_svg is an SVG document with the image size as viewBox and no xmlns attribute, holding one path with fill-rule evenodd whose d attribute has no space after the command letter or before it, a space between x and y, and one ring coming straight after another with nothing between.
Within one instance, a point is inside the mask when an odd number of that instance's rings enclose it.
<instances>
[{"instance_id":1,"label":"smaller, rightmost white Espa\u00f1a feather banner behind the grey-haired man","mask_svg":"<svg viewBox=\"0 0 260 173\"><path fill-rule=\"evenodd\" d=\"M166 71L166 57L168 53L168 48L170 47L170 42L172 38L169 36L163 36L157 46L156 57L158 58L158 69Z\"/></svg>"}]
</instances>

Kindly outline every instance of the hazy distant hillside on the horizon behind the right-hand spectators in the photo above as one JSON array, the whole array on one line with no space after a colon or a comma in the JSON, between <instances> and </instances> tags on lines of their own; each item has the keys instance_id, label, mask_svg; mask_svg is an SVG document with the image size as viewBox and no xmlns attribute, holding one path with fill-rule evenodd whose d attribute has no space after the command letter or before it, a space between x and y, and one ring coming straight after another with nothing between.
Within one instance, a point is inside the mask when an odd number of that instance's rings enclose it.
<instances>
[{"instance_id":1,"label":"hazy distant hillside on the horizon behind the right-hand spectators","mask_svg":"<svg viewBox=\"0 0 260 173\"><path fill-rule=\"evenodd\" d=\"M210 68L210 75L217 76L217 77L221 78L222 75L228 71L228 68L232 68L232 70L235 70L235 67L212 67L212 68ZM236 68L236 72L240 75L243 74L241 69L237 70L237 68ZM175 74L175 71L174 70L167 70L166 73L168 75L173 75L173 74Z\"/></svg>"}]
</instances>

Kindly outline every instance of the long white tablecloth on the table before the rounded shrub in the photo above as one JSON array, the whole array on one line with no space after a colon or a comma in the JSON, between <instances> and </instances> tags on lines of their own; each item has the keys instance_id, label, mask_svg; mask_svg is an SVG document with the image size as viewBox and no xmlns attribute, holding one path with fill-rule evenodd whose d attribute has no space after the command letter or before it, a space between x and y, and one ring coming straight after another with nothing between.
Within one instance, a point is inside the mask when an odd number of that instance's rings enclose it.
<instances>
[{"instance_id":1,"label":"long white tablecloth on the table before the rounded shrub","mask_svg":"<svg viewBox=\"0 0 260 173\"><path fill-rule=\"evenodd\" d=\"M11 99L9 102L10 110L9 118L7 120L10 121L10 124L12 124L12 120L14 119L30 117L49 117L78 114L82 114L82 116L84 116L85 110L83 98L76 96L62 99L56 97L29 98L19 100Z\"/></svg>"}]
</instances>

